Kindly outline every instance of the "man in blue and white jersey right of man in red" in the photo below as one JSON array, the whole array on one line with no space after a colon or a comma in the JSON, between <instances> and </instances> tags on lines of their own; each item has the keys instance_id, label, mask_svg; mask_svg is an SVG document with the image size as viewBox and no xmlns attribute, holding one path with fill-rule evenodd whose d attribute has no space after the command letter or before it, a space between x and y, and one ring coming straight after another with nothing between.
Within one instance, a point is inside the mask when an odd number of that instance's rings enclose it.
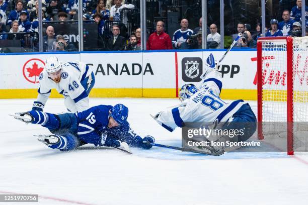
<instances>
[{"instance_id":1,"label":"man in blue and white jersey right of man in red","mask_svg":"<svg viewBox=\"0 0 308 205\"><path fill-rule=\"evenodd\" d=\"M193 30L188 28L188 25L187 19L181 20L181 29L176 30L173 34L172 45L174 48L181 48L181 44L186 42L188 37L194 33Z\"/></svg>"}]
</instances>

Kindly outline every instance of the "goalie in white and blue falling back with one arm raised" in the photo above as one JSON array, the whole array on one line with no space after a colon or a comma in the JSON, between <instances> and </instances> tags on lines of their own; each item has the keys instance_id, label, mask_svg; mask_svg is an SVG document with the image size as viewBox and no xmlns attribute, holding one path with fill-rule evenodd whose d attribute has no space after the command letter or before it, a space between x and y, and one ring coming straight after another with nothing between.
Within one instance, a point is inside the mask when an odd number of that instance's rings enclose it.
<instances>
[{"instance_id":1,"label":"goalie in white and blue falling back with one arm raised","mask_svg":"<svg viewBox=\"0 0 308 205\"><path fill-rule=\"evenodd\" d=\"M193 84L183 85L179 94L182 101L180 106L159 112L152 117L170 132L177 127L184 127L185 122L213 123L223 129L245 127L244 135L238 136L238 140L246 141L256 131L255 114L249 104L242 99L226 103L219 97L222 87L221 73L215 69L212 54L207 58L206 64L207 67L201 75L200 89ZM235 127L239 125L243 127Z\"/></svg>"}]
</instances>

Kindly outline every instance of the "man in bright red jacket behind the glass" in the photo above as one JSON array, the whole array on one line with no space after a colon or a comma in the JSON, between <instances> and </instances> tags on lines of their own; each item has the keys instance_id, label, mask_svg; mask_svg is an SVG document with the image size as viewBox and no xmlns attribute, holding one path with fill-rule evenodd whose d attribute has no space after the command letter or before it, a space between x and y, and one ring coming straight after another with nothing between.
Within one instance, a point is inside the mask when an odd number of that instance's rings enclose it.
<instances>
[{"instance_id":1,"label":"man in bright red jacket behind the glass","mask_svg":"<svg viewBox=\"0 0 308 205\"><path fill-rule=\"evenodd\" d=\"M146 50L166 49L172 49L171 38L164 32L164 22L158 21L156 23L156 31L146 41Z\"/></svg>"}]
</instances>

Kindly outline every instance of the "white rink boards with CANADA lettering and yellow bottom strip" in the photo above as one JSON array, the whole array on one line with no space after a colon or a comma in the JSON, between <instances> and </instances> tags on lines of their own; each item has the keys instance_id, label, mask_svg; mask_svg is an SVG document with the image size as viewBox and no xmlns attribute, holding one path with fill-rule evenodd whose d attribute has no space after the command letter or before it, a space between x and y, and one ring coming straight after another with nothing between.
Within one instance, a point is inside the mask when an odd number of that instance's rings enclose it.
<instances>
[{"instance_id":1,"label":"white rink boards with CANADA lettering and yellow bottom strip","mask_svg":"<svg viewBox=\"0 0 308 205\"><path fill-rule=\"evenodd\" d=\"M186 83L201 83L210 53L219 60L224 50L160 52L81 52L0 55L0 98L35 98L38 76L49 56L82 61L96 77L92 97L176 97ZM256 99L257 51L230 51L222 63L222 98ZM51 97L61 97L56 91Z\"/></svg>"}]
</instances>

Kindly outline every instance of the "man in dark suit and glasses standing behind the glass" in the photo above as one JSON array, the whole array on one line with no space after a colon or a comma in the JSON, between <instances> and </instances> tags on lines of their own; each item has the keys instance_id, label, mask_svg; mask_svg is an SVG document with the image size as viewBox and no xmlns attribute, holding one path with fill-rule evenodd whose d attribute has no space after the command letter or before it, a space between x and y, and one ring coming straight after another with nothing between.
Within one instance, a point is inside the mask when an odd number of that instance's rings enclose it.
<instances>
[{"instance_id":1,"label":"man in dark suit and glasses standing behind the glass","mask_svg":"<svg viewBox=\"0 0 308 205\"><path fill-rule=\"evenodd\" d=\"M108 40L107 48L110 51L122 51L126 47L126 40L120 36L120 26L112 26L112 37Z\"/></svg>"}]
</instances>

